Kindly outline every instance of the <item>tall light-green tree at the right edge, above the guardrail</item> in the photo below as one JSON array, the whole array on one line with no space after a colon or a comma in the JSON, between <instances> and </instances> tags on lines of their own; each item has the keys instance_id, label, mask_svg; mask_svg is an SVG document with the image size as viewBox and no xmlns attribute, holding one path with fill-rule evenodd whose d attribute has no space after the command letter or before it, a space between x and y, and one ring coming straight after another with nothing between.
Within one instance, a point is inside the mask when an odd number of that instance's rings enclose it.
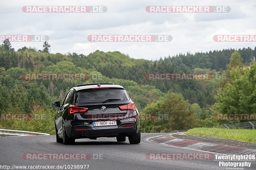
<instances>
[{"instance_id":1,"label":"tall light-green tree at the right edge, above the guardrail","mask_svg":"<svg viewBox=\"0 0 256 170\"><path fill-rule=\"evenodd\" d=\"M244 67L237 66L229 72L229 81L215 97L214 113L255 113L256 112L256 63ZM225 123L222 121L221 123ZM230 123L230 121L229 121Z\"/></svg>"}]
</instances>

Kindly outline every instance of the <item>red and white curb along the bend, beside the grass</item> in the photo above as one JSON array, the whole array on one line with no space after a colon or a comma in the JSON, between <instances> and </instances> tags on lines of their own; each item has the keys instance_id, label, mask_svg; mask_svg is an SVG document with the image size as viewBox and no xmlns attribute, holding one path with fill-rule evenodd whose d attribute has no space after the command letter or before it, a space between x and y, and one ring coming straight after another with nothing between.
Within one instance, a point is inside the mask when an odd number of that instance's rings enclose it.
<instances>
[{"instance_id":1,"label":"red and white curb along the bend, beside the grass","mask_svg":"<svg viewBox=\"0 0 256 170\"><path fill-rule=\"evenodd\" d=\"M169 146L175 146L180 148L195 149L201 151L217 152L223 154L256 154L255 149L248 149L243 147L221 145L215 143L204 143L192 140L179 139L169 135L161 135L148 139L154 143L160 143Z\"/></svg>"}]
</instances>

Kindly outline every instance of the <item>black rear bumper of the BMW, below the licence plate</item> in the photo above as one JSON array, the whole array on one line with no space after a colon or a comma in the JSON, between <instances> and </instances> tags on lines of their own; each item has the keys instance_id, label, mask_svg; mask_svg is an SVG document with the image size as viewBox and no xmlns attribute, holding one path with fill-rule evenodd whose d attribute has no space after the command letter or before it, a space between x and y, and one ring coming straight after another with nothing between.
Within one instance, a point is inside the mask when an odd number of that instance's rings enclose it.
<instances>
[{"instance_id":1,"label":"black rear bumper of the BMW, below the licence plate","mask_svg":"<svg viewBox=\"0 0 256 170\"><path fill-rule=\"evenodd\" d=\"M127 128L124 126L128 126ZM83 129L86 130L76 130ZM87 136L82 136L82 133L89 133ZM115 136L128 136L137 132L136 122L125 122L118 126L104 126L92 127L90 125L75 125L71 128L71 138L95 138L95 137L115 137Z\"/></svg>"}]
</instances>

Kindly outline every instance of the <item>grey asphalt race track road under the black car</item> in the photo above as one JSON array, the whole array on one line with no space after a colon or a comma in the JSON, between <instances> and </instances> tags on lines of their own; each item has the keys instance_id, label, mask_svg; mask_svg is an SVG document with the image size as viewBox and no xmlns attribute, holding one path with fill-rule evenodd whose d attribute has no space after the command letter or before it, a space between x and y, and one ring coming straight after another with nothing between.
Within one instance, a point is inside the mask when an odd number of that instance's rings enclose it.
<instances>
[{"instance_id":1,"label":"grey asphalt race track road under the black car","mask_svg":"<svg viewBox=\"0 0 256 170\"><path fill-rule=\"evenodd\" d=\"M116 138L98 138L97 140L79 139L76 140L74 145L63 145L55 142L54 135L0 137L0 165L11 167L12 165L89 165L88 169L111 170L226 169L225 167L219 167L218 161L214 160L148 160L146 158L147 153L209 153L174 148L148 141L149 137L163 134L141 134L141 143L135 145L129 144L128 138L126 138L126 142L122 143L117 143ZM91 157L88 160L26 160L22 158L22 155L26 153L88 153ZM95 159L93 159L93 154ZM97 159L97 156L101 159ZM255 162L253 163L250 168L245 169L256 169Z\"/></svg>"}]
</instances>

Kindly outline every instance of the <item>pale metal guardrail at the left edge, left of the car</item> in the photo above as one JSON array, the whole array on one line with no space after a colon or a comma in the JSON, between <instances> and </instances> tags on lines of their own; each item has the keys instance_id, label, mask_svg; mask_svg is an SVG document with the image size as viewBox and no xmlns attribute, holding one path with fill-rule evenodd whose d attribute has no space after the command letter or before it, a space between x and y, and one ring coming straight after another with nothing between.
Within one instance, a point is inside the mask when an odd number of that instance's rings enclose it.
<instances>
[{"instance_id":1,"label":"pale metal guardrail at the left edge, left of the car","mask_svg":"<svg viewBox=\"0 0 256 170\"><path fill-rule=\"evenodd\" d=\"M50 134L20 131L20 130L0 129L0 135L4 135L4 136L38 136L38 135L50 135Z\"/></svg>"}]
</instances>

